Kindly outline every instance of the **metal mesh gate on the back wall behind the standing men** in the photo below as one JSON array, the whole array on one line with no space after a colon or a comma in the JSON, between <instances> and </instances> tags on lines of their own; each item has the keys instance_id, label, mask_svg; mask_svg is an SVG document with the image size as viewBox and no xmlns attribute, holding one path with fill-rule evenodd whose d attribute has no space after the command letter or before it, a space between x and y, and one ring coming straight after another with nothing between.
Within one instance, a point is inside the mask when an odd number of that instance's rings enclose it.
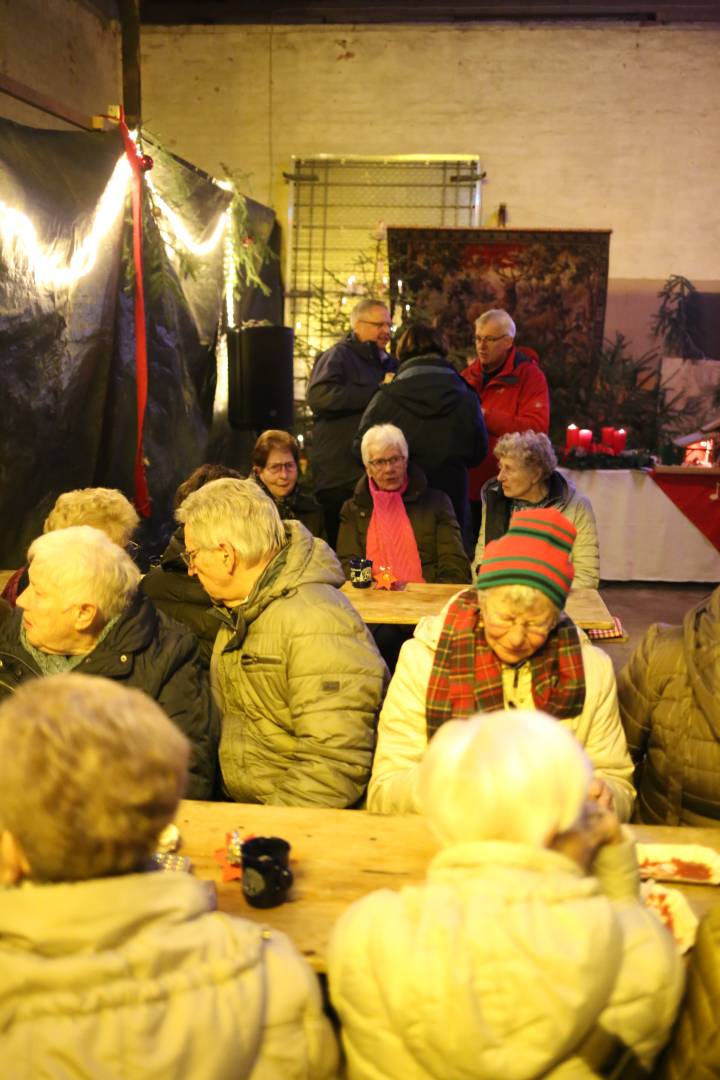
<instances>
[{"instance_id":1,"label":"metal mesh gate on the back wall behind the standing men","mask_svg":"<svg viewBox=\"0 0 720 1080\"><path fill-rule=\"evenodd\" d=\"M471 156L299 158L293 165L287 322L302 399L315 356L348 329L353 303L390 297L386 227L477 226L481 185Z\"/></svg>"}]
</instances>

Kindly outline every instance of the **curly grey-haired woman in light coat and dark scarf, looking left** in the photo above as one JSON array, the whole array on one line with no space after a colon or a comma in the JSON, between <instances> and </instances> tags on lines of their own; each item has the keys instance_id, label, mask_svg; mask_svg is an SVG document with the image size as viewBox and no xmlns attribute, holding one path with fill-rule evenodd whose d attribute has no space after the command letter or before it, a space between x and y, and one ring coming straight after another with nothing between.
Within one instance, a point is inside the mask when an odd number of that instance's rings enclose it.
<instances>
[{"instance_id":1,"label":"curly grey-haired woman in light coat and dark scarf, looking left","mask_svg":"<svg viewBox=\"0 0 720 1080\"><path fill-rule=\"evenodd\" d=\"M553 507L578 530L570 561L575 569L573 589L597 589L600 555L595 515L589 499L575 490L572 481L557 470L557 458L547 435L515 431L498 440L494 450L498 476L480 492L483 517L475 548L474 566L483 562L486 543L499 540L517 510Z\"/></svg>"}]
</instances>

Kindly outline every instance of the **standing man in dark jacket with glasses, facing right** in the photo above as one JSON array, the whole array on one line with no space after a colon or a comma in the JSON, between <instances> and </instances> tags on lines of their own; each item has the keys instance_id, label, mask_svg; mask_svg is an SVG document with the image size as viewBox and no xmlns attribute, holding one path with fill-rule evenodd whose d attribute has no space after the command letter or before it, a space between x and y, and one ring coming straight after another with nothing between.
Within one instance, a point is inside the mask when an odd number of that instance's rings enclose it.
<instances>
[{"instance_id":1,"label":"standing man in dark jacket with glasses, facing right","mask_svg":"<svg viewBox=\"0 0 720 1080\"><path fill-rule=\"evenodd\" d=\"M325 530L335 548L340 508L351 499L363 467L352 453L365 407L378 387L392 378L395 363L385 351L392 336L382 300L365 299L350 313L350 333L315 361L308 383L314 417L311 461Z\"/></svg>"}]
</instances>

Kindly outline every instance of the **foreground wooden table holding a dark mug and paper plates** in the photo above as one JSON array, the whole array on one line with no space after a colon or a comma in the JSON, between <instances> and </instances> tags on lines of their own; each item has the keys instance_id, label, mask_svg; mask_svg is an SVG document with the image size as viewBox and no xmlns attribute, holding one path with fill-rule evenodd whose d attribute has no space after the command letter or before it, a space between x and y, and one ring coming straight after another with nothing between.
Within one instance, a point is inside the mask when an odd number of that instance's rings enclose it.
<instances>
[{"instance_id":1,"label":"foreground wooden table holding a dark mug and paper plates","mask_svg":"<svg viewBox=\"0 0 720 1080\"><path fill-rule=\"evenodd\" d=\"M438 850L423 818L370 814L364 810L315 810L242 802L182 802L176 822L181 851L198 877L216 882L218 907L287 933L317 971L336 920L354 900L375 889L399 889L424 879ZM222 882L213 852L226 833L282 836L291 846L295 885L280 907L250 907L239 881ZM633 826L638 840L703 843L720 851L720 828ZM701 918L720 903L720 886L676 886Z\"/></svg>"}]
</instances>

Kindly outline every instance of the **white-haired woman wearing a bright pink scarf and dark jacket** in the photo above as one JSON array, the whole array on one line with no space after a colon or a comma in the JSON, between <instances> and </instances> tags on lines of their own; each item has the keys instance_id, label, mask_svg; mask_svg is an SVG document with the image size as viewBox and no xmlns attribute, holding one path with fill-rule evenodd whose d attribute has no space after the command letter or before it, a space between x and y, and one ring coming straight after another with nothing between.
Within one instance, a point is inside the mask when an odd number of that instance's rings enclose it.
<instances>
[{"instance_id":1,"label":"white-haired woman wearing a bright pink scarf and dark jacket","mask_svg":"<svg viewBox=\"0 0 720 1080\"><path fill-rule=\"evenodd\" d=\"M408 462L400 429L393 423L369 428L361 454L365 475L340 511L337 552L345 576L351 558L363 556L376 567L390 567L399 581L468 582L452 503Z\"/></svg>"}]
</instances>

